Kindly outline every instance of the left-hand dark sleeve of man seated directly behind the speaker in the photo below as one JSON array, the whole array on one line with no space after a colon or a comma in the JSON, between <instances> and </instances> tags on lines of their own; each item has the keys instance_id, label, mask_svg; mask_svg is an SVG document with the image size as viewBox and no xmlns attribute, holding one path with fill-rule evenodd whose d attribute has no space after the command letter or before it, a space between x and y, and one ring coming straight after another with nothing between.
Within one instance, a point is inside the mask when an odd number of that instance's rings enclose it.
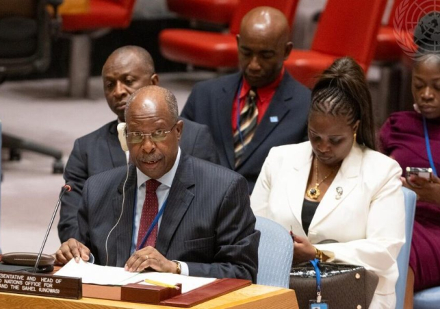
<instances>
[{"instance_id":1,"label":"left-hand dark sleeve of man seated directly behind the speaker","mask_svg":"<svg viewBox=\"0 0 440 309\"><path fill-rule=\"evenodd\" d=\"M58 236L61 242L75 237L78 232L77 211L81 201L81 192L84 182L88 178L86 160L81 158L79 140L75 140L72 153L68 158L64 169L64 180L72 186L72 190L66 193L62 199L60 208L60 222L58 223Z\"/></svg>"}]
</instances>

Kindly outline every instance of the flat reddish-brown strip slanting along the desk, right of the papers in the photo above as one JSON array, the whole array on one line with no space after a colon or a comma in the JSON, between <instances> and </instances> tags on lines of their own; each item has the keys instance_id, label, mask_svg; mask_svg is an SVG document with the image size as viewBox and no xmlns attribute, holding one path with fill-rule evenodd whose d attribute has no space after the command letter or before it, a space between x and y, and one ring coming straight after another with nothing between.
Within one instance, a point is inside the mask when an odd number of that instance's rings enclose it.
<instances>
[{"instance_id":1,"label":"flat reddish-brown strip slanting along the desk, right of the papers","mask_svg":"<svg viewBox=\"0 0 440 309\"><path fill-rule=\"evenodd\" d=\"M218 279L190 292L161 301L159 304L163 306L190 308L205 301L209 301L210 299L236 291L239 288L250 286L250 284L252 284L250 280L231 278Z\"/></svg>"}]
</instances>

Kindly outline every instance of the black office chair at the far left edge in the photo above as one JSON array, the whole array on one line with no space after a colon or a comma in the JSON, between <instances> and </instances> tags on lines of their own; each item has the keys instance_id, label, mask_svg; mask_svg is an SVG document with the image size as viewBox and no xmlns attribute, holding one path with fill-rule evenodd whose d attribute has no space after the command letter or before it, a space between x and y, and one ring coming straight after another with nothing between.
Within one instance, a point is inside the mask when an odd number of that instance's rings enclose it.
<instances>
[{"instance_id":1,"label":"black office chair at the far left edge","mask_svg":"<svg viewBox=\"0 0 440 309\"><path fill-rule=\"evenodd\" d=\"M60 29L57 6L62 0L0 0L0 84L8 77L43 72L51 61L51 38ZM53 16L47 5L52 5ZM63 173L62 152L1 134L10 160L21 159L21 149L55 158L53 173Z\"/></svg>"}]
</instances>

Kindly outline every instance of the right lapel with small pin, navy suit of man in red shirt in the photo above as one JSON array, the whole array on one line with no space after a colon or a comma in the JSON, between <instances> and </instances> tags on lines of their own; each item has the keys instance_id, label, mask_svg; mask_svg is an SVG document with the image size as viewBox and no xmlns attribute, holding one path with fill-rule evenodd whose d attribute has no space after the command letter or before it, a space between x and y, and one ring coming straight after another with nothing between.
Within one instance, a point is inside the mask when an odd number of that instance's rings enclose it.
<instances>
[{"instance_id":1,"label":"right lapel with small pin, navy suit of man in red shirt","mask_svg":"<svg viewBox=\"0 0 440 309\"><path fill-rule=\"evenodd\" d=\"M257 147L259 147L259 145L261 145L261 143L268 138L275 127L281 123L287 112L289 112L290 107L286 101L289 101L293 97L291 90L292 87L288 86L289 80L289 75L285 73L283 79L281 80L281 84L276 89L274 97L272 97L272 101L270 101L268 110L266 110L261 122L257 126L254 137L247 145L246 150L243 153L242 160L237 168L246 162L252 153L254 153L255 149L257 149ZM270 117L276 117L278 121L272 122Z\"/></svg>"}]
</instances>

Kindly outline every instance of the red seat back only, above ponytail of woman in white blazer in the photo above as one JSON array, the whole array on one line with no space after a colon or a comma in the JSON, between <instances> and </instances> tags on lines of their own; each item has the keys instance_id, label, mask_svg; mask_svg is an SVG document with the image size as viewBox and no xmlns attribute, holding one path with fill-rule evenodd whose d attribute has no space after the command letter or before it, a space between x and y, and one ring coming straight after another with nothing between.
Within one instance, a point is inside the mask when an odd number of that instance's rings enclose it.
<instances>
[{"instance_id":1,"label":"red seat back only, above ponytail of woman in white blazer","mask_svg":"<svg viewBox=\"0 0 440 309\"><path fill-rule=\"evenodd\" d=\"M328 0L311 49L370 64L386 0Z\"/></svg>"}]
</instances>

